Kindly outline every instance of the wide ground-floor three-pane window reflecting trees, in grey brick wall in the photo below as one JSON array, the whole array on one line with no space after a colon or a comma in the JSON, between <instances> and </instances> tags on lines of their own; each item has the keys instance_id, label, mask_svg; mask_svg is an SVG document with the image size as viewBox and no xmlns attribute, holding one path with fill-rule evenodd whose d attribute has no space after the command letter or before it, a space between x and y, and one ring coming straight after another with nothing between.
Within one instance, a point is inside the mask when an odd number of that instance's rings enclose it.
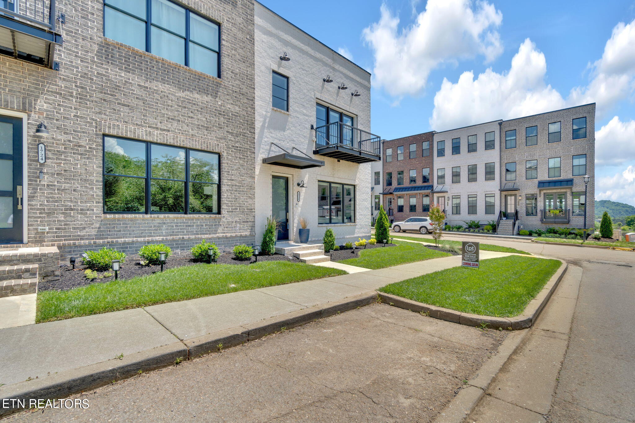
<instances>
[{"instance_id":1,"label":"wide ground-floor three-pane window reflecting trees, in grey brick wall","mask_svg":"<svg viewBox=\"0 0 635 423\"><path fill-rule=\"evenodd\" d=\"M220 213L220 155L104 136L104 212Z\"/></svg>"}]
</instances>

